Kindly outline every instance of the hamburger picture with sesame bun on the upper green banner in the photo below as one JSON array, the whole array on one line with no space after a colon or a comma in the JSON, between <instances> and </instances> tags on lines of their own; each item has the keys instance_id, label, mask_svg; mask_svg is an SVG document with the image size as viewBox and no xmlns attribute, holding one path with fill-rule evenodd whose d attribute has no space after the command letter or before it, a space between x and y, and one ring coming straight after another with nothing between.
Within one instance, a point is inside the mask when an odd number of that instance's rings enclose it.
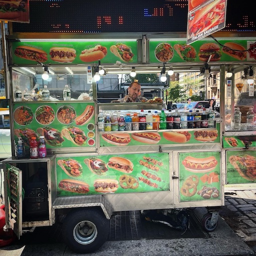
<instances>
[{"instance_id":1,"label":"hamburger picture with sesame bun on the upper green banner","mask_svg":"<svg viewBox=\"0 0 256 256\"><path fill-rule=\"evenodd\" d=\"M220 60L221 52L218 44L214 42L207 42L200 46L198 57L201 61L208 61L210 55L210 61Z\"/></svg>"}]
</instances>

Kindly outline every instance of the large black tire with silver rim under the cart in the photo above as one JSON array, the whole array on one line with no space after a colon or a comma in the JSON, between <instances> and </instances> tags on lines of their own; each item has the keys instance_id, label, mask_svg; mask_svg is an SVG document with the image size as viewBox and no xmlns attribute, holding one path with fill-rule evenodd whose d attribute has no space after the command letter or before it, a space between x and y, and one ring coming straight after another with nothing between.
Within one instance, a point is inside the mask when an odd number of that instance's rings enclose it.
<instances>
[{"instance_id":1,"label":"large black tire with silver rim under the cart","mask_svg":"<svg viewBox=\"0 0 256 256\"><path fill-rule=\"evenodd\" d=\"M81 233L78 229L81 222L89 225L87 234ZM72 251L77 253L93 252L99 249L108 235L109 220L100 209L75 209L70 211L63 221L63 240Z\"/></svg>"}]
</instances>

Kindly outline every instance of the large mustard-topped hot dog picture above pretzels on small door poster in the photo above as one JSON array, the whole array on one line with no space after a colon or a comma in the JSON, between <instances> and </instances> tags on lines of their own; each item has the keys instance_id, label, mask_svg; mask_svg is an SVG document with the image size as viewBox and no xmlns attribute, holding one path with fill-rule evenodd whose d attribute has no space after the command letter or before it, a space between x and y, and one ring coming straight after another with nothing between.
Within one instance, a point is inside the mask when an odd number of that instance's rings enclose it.
<instances>
[{"instance_id":1,"label":"large mustard-topped hot dog picture above pretzels on small door poster","mask_svg":"<svg viewBox=\"0 0 256 256\"><path fill-rule=\"evenodd\" d=\"M185 169L191 172L201 173L213 170L217 165L217 160L214 156L205 158L195 158L193 156L186 156L182 161Z\"/></svg>"}]
</instances>

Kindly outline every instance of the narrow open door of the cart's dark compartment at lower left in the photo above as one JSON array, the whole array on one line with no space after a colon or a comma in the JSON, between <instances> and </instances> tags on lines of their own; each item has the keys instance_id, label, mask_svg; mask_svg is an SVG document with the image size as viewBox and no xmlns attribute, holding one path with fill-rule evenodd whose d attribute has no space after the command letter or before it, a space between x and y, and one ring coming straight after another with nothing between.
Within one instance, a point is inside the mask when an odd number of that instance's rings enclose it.
<instances>
[{"instance_id":1,"label":"narrow open door of the cart's dark compartment at lower left","mask_svg":"<svg viewBox=\"0 0 256 256\"><path fill-rule=\"evenodd\" d=\"M19 239L22 232L22 175L17 167L5 163L5 219Z\"/></svg>"}]
</instances>

